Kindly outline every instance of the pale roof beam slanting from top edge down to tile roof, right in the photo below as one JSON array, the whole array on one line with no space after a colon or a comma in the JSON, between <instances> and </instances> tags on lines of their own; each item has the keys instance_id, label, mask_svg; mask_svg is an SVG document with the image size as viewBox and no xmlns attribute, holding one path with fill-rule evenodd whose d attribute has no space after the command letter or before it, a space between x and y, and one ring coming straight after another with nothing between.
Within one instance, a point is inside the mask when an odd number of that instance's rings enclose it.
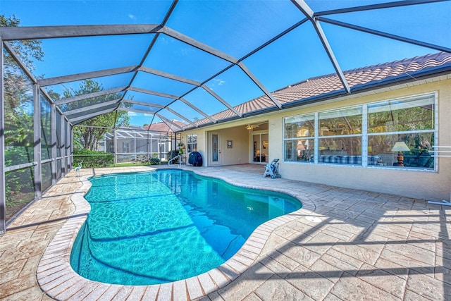
<instances>
[{"instance_id":1,"label":"pale roof beam slanting from top edge down to tile roof, right","mask_svg":"<svg viewBox=\"0 0 451 301\"><path fill-rule=\"evenodd\" d=\"M306 16L310 21L311 24L314 26L316 30L316 34L318 35L319 39L321 40L321 43L323 44L324 50L326 50L326 53L330 59L330 62L333 65L333 68L335 69L335 72L338 75L338 78L340 78L340 81L345 88L345 91L347 93L351 92L350 86L347 84L347 80L345 78L345 75L343 74L340 65L338 64L337 59L335 58L335 54L333 54L332 47L330 47L330 44L327 40L326 34L323 31L323 28L321 27L321 24L318 20L316 20L314 16L314 12L311 10L311 8L305 3L304 0L291 0L292 4L295 4L295 6L304 13L304 16Z\"/></svg>"}]
</instances>

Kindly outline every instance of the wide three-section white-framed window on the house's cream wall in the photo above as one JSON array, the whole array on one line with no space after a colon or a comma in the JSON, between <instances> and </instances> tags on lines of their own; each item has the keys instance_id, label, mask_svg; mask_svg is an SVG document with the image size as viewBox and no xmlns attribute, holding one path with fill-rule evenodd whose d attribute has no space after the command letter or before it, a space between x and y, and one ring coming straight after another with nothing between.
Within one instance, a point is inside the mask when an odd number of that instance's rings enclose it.
<instances>
[{"instance_id":1,"label":"wide three-section white-framed window on the house's cream wall","mask_svg":"<svg viewBox=\"0 0 451 301\"><path fill-rule=\"evenodd\" d=\"M435 94L284 119L285 161L435 167Z\"/></svg>"}]
</instances>

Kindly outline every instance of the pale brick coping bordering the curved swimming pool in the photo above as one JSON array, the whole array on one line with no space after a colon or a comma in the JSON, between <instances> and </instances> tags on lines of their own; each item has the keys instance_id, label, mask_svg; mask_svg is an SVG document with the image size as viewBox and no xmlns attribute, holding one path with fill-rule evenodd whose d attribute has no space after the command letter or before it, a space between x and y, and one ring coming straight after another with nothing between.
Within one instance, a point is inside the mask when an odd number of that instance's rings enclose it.
<instances>
[{"instance_id":1,"label":"pale brick coping bordering the curved swimming pool","mask_svg":"<svg viewBox=\"0 0 451 301\"><path fill-rule=\"evenodd\" d=\"M158 167L154 169L159 169ZM178 169L178 168L176 168ZM226 181L231 185L242 188L253 188L261 190L269 190L275 192L283 192L287 195L295 197L302 203L302 208L293 211L290 214L278 216L259 225L240 250L226 262L206 271L203 274L186 278L171 283L162 283L154 285L118 285L110 283L101 283L84 278L77 274L70 266L70 252L72 251L75 238L80 231L83 223L90 211L90 205L85 199L85 194L91 188L88 178L91 176L82 176L78 178L82 186L75 190L70 196L70 201L75 206L75 211L68 216L63 226L58 230L54 238L47 245L37 266L36 276L37 282L41 290L49 297L56 300L80 300L84 297L101 297L102 300L112 300L115 297L129 297L137 294L137 297L147 299L173 300L174 297L182 297L185 300L193 300L204 297L209 293L213 293L220 288L229 285L240 275L245 273L249 267L256 262L262 254L266 242L271 233L280 226L299 219L300 216L310 215L314 212L315 205L310 199L300 199L298 196L278 190L276 188L268 188L261 185L260 187L252 187L250 185L242 185L242 183L234 183L230 178L221 176L211 176L193 169L183 170L192 171L201 176L210 178L218 178ZM127 171L114 171L113 173L125 173Z\"/></svg>"}]
</instances>

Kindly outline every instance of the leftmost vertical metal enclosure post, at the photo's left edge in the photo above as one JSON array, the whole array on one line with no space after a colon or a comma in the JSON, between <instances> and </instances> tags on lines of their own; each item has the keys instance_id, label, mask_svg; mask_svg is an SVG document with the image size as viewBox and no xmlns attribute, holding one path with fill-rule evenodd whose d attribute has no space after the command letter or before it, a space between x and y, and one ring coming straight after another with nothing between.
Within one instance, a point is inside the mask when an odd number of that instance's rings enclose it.
<instances>
[{"instance_id":1,"label":"leftmost vertical metal enclosure post, at the photo's left edge","mask_svg":"<svg viewBox=\"0 0 451 301\"><path fill-rule=\"evenodd\" d=\"M6 233L6 195L5 195L5 119L3 90L3 42L0 37L0 236Z\"/></svg>"}]
</instances>

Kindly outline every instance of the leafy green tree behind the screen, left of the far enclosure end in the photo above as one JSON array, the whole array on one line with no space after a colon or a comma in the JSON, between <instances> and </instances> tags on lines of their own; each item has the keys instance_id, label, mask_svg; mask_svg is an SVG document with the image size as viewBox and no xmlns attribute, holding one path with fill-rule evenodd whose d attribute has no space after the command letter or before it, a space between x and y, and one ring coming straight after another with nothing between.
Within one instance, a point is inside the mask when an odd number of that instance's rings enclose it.
<instances>
[{"instance_id":1,"label":"leafy green tree behind the screen, left of the far enclosure end","mask_svg":"<svg viewBox=\"0 0 451 301\"><path fill-rule=\"evenodd\" d=\"M78 90L72 91L66 89L63 92L64 98L74 97L77 95L89 94L104 90L99 82L95 80L84 80L80 83ZM109 102L113 99L121 98L121 94L107 94L101 97L91 99L84 99L79 102L70 102L62 107L63 111L79 109L93 104ZM80 113L81 114L81 113ZM99 140L103 139L104 135L109 131L109 128L114 126L119 127L129 125L130 116L127 111L113 111L110 113L101 114L87 121L83 121L80 125L75 126L73 130L74 147L78 149L89 149L92 151L98 150ZM102 128L92 128L92 126Z\"/></svg>"}]
</instances>

